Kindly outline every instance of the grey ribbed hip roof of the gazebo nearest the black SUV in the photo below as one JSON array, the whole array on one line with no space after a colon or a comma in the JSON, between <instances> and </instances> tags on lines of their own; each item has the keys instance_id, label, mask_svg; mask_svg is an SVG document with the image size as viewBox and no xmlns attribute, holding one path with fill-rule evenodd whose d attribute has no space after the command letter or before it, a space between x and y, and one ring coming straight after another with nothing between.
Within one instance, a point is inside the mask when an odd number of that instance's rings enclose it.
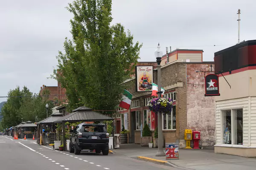
<instances>
[{"instance_id":1,"label":"grey ribbed hip roof of the gazebo nearest the black SUV","mask_svg":"<svg viewBox=\"0 0 256 170\"><path fill-rule=\"evenodd\" d=\"M84 107L84 106L83 106ZM77 108L79 109L79 108ZM77 110L76 109L76 110ZM80 122L80 121L104 121L104 120L113 120L112 117L105 116L101 113L86 110L86 109L79 109L79 111L70 113L60 119L56 120L54 123L62 123L62 122Z\"/></svg>"}]
</instances>

